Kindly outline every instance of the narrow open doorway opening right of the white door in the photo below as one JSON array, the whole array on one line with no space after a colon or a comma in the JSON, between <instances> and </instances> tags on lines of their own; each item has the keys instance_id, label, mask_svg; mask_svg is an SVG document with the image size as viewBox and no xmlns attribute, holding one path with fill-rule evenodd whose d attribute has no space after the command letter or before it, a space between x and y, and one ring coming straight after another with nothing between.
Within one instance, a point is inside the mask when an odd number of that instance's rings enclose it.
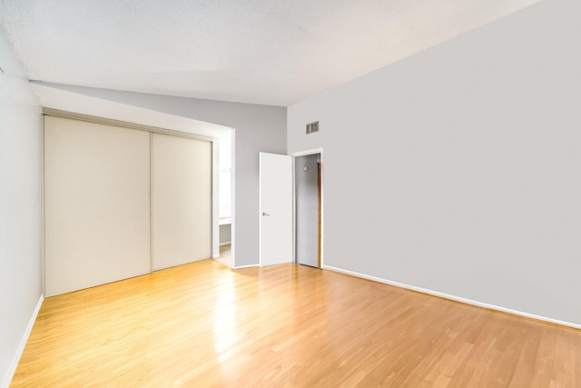
<instances>
[{"instance_id":1,"label":"narrow open doorway opening right of the white door","mask_svg":"<svg viewBox=\"0 0 581 388\"><path fill-rule=\"evenodd\" d=\"M294 159L295 263L322 268L321 154Z\"/></svg>"}]
</instances>

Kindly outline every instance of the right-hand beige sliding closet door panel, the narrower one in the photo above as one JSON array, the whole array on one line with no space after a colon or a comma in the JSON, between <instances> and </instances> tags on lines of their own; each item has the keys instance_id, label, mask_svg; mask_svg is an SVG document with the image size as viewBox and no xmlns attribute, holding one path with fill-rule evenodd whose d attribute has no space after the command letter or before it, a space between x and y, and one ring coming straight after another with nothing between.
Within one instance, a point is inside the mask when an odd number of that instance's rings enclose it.
<instances>
[{"instance_id":1,"label":"right-hand beige sliding closet door panel, the narrower one","mask_svg":"<svg viewBox=\"0 0 581 388\"><path fill-rule=\"evenodd\" d=\"M212 256L212 143L152 134L153 270Z\"/></svg>"}]
</instances>

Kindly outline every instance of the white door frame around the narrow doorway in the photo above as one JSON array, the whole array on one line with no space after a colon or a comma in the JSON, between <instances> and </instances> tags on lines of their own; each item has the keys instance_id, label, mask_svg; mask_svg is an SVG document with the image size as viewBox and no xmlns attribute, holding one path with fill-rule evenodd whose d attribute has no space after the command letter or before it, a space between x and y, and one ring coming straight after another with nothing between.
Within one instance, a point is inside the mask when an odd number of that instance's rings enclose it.
<instances>
[{"instance_id":1,"label":"white door frame around the narrow doorway","mask_svg":"<svg viewBox=\"0 0 581 388\"><path fill-rule=\"evenodd\" d=\"M292 263L297 264L297 194L296 194L296 184L295 184L295 159L298 156L307 156L311 154L320 154L320 234L319 234L319 250L320 250L320 269L325 267L324 257L324 239L325 239L325 202L324 202L324 185L325 185L325 163L323 159L323 148L312 148L310 150L298 151L291 153L292 156Z\"/></svg>"}]
</instances>

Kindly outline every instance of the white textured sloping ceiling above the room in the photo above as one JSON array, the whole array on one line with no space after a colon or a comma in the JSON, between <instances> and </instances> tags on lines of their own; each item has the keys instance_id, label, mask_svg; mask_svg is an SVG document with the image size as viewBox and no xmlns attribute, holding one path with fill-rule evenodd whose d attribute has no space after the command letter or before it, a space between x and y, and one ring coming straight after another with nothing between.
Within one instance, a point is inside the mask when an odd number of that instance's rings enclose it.
<instances>
[{"instance_id":1,"label":"white textured sloping ceiling above the room","mask_svg":"<svg viewBox=\"0 0 581 388\"><path fill-rule=\"evenodd\" d=\"M288 106L538 0L0 0L33 80Z\"/></svg>"}]
</instances>

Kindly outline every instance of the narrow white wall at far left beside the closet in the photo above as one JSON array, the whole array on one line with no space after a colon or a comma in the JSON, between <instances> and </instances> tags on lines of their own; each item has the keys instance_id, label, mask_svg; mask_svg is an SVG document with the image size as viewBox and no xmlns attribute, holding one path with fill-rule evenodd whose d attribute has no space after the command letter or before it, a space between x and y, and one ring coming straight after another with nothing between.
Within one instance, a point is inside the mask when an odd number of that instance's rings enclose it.
<instances>
[{"instance_id":1,"label":"narrow white wall at far left beside the closet","mask_svg":"<svg viewBox=\"0 0 581 388\"><path fill-rule=\"evenodd\" d=\"M0 31L0 386L42 294L42 116Z\"/></svg>"}]
</instances>

